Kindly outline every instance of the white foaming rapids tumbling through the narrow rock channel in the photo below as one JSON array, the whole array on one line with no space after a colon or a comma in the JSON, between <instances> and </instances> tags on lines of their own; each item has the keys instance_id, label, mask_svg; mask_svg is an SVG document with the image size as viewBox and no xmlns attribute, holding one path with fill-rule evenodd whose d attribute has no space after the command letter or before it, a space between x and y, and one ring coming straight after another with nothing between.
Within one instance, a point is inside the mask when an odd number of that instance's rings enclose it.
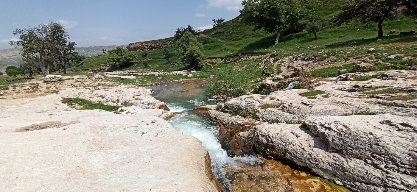
<instances>
[{"instance_id":1,"label":"white foaming rapids tumbling through the narrow rock channel","mask_svg":"<svg viewBox=\"0 0 417 192\"><path fill-rule=\"evenodd\" d=\"M190 100L188 103L167 103L171 112L182 112L171 118L169 122L176 130L183 132L185 135L192 135L201 141L203 147L210 154L214 177L221 183L225 191L231 191L231 180L226 176L224 165L231 165L239 170L241 168L237 164L238 161L249 165L262 163L262 161L254 156L227 156L227 152L221 147L219 142L219 131L216 124L206 117L198 116L190 112L189 108L193 108L193 105L201 103L206 104L206 101Z\"/></svg>"}]
</instances>

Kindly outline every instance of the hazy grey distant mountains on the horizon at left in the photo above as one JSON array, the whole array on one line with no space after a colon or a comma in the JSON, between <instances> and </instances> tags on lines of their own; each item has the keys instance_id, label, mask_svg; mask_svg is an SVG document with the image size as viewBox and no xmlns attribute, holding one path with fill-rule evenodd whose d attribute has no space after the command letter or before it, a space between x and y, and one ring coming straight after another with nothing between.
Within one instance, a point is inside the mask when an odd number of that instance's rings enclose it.
<instances>
[{"instance_id":1,"label":"hazy grey distant mountains on the horizon at left","mask_svg":"<svg viewBox=\"0 0 417 192\"><path fill-rule=\"evenodd\" d=\"M126 48L126 45L121 45ZM102 49L110 50L116 48L117 45L98 46L98 47L75 47L75 50L85 57L93 57L96 55L103 55ZM8 66L18 67L22 64L22 56L20 50L16 48L0 50L0 69L4 70Z\"/></svg>"}]
</instances>

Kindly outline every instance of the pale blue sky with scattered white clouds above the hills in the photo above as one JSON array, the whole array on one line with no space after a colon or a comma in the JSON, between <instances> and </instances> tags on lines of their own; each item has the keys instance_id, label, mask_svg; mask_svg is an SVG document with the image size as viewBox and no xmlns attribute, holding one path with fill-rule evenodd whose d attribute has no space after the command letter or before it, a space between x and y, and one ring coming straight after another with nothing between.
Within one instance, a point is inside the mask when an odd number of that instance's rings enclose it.
<instances>
[{"instance_id":1,"label":"pale blue sky with scattered white clouds above the hills","mask_svg":"<svg viewBox=\"0 0 417 192\"><path fill-rule=\"evenodd\" d=\"M173 37L177 27L211 28L239 15L241 0L0 0L0 49L16 29L60 22L78 47Z\"/></svg>"}]
</instances>

